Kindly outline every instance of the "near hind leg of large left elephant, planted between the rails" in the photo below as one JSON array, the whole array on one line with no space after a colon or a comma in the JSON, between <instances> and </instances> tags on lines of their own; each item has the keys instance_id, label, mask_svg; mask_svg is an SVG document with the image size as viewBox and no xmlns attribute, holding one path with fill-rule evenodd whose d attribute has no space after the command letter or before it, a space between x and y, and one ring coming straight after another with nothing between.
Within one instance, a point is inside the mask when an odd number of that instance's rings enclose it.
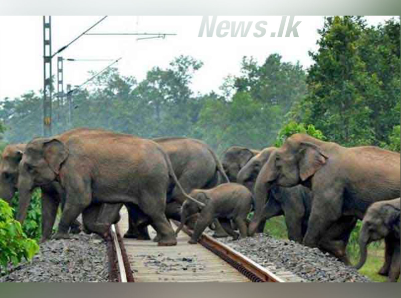
<instances>
[{"instance_id":1,"label":"near hind leg of large left elephant, planted between the rails","mask_svg":"<svg viewBox=\"0 0 401 298\"><path fill-rule=\"evenodd\" d=\"M152 193L153 192L153 193ZM160 197L160 193L156 190L148 190L142 192L142 197L139 200L139 208L150 217L152 226L156 230L160 246L176 245L177 239L170 223L165 215L165 193ZM159 199L156 199L159 197Z\"/></svg>"}]
</instances>

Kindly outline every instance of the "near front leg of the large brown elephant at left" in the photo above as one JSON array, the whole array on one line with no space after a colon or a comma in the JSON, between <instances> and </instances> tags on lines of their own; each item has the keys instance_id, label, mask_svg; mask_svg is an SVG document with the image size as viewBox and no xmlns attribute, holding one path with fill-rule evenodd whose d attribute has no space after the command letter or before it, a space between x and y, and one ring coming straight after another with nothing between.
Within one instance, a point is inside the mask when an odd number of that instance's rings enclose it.
<instances>
[{"instance_id":1,"label":"near front leg of the large brown elephant at left","mask_svg":"<svg viewBox=\"0 0 401 298\"><path fill-rule=\"evenodd\" d=\"M72 178L66 188L66 201L59 222L59 230L54 235L55 239L68 239L68 230L71 224L77 219L85 208L92 201L92 190L89 181L84 181L81 177Z\"/></svg>"}]
</instances>

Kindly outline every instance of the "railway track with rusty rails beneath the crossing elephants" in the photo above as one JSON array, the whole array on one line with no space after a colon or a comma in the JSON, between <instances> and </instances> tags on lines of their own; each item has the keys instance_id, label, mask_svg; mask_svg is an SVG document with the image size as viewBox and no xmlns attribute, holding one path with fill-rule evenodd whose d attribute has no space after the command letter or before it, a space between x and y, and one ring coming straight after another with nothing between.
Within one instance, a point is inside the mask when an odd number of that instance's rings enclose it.
<instances>
[{"instance_id":1,"label":"railway track with rusty rails beneath the crossing elephants","mask_svg":"<svg viewBox=\"0 0 401 298\"><path fill-rule=\"evenodd\" d=\"M177 225L178 223L173 222ZM119 282L299 282L288 271L273 273L231 247L203 234L196 245L188 244L191 230L184 228L176 246L157 246L153 241L123 239L128 229L124 208L108 241L111 281ZM150 229L151 237L156 232Z\"/></svg>"}]
</instances>

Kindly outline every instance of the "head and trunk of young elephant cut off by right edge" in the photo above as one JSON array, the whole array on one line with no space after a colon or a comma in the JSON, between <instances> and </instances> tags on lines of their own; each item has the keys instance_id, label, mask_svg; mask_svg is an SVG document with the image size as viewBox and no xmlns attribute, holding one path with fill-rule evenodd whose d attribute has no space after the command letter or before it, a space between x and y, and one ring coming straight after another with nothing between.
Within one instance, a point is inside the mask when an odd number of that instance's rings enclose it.
<instances>
[{"instance_id":1,"label":"head and trunk of young elephant cut off by right edge","mask_svg":"<svg viewBox=\"0 0 401 298\"><path fill-rule=\"evenodd\" d=\"M396 200L398 202L395 202L395 205L388 203ZM390 233L393 233L399 241L400 203L399 199L396 200L374 203L366 211L359 232L360 257L358 264L355 266L356 269L360 269L365 264L369 243L383 239Z\"/></svg>"}]
</instances>

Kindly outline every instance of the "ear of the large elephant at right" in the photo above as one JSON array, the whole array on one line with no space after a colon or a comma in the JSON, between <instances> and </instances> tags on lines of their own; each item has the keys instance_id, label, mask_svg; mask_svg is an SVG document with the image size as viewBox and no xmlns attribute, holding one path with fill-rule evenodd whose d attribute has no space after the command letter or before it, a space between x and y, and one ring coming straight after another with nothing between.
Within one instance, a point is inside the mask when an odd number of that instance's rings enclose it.
<instances>
[{"instance_id":1,"label":"ear of the large elephant at right","mask_svg":"<svg viewBox=\"0 0 401 298\"><path fill-rule=\"evenodd\" d=\"M323 153L322 149L316 144L302 142L300 149L301 159L299 161L299 176L302 181L313 176L328 159L328 156Z\"/></svg>"}]
</instances>

